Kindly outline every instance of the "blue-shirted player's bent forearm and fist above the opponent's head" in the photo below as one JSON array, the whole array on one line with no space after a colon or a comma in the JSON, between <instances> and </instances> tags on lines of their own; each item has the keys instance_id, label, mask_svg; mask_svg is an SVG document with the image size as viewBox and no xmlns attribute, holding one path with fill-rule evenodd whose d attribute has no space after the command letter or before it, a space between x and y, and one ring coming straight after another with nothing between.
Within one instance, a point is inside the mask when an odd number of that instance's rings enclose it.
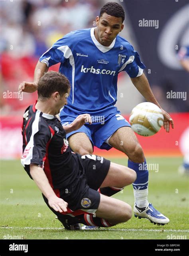
<instances>
[{"instance_id":1,"label":"blue-shirted player's bent forearm and fist above the opponent's head","mask_svg":"<svg viewBox=\"0 0 189 256\"><path fill-rule=\"evenodd\" d=\"M19 93L25 92L25 93L34 93L37 91L37 84L39 82L39 79L44 75L45 72L47 72L49 68L45 63L42 63L40 61L37 62L37 65L35 67L34 72L34 81L33 83L30 82L22 82L19 87L18 91Z\"/></svg>"}]
</instances>

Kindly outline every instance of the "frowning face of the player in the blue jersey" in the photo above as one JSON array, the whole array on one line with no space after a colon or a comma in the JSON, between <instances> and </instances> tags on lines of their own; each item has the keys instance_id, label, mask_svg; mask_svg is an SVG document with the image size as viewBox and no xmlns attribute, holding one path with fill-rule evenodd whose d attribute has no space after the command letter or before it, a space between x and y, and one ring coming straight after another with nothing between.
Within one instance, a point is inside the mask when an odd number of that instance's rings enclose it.
<instances>
[{"instance_id":1,"label":"frowning face of the player in the blue jersey","mask_svg":"<svg viewBox=\"0 0 189 256\"><path fill-rule=\"evenodd\" d=\"M121 32L124 28L124 24L122 24L122 18L108 15L105 12L100 18L96 17L96 25L96 40L104 46L110 46L119 32Z\"/></svg>"}]
</instances>

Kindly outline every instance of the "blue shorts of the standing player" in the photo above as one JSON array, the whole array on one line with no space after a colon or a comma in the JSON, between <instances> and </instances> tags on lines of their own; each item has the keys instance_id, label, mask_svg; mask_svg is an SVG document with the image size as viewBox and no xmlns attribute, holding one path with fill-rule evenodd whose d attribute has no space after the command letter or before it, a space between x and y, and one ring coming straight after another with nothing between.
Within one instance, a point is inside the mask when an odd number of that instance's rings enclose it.
<instances>
[{"instance_id":1,"label":"blue shorts of the standing player","mask_svg":"<svg viewBox=\"0 0 189 256\"><path fill-rule=\"evenodd\" d=\"M70 117L65 113L61 113L61 123L63 126L68 125L72 123L76 117ZM68 133L67 138L69 138L74 133L85 133L89 137L93 147L96 146L100 149L109 150L112 147L108 144L108 140L115 133L115 131L124 126L130 127L130 123L128 123L128 121L124 119L122 115L120 115L120 112L108 115L106 117L91 117L93 121L91 125L86 123L77 131Z\"/></svg>"}]
</instances>

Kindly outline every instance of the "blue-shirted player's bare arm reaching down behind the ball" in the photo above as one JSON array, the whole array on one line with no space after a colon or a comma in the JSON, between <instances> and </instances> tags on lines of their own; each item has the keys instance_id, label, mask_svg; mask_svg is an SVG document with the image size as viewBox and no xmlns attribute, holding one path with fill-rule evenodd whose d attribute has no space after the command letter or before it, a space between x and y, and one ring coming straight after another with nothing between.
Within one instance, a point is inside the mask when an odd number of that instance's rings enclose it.
<instances>
[{"instance_id":1,"label":"blue-shirted player's bare arm reaching down behind the ball","mask_svg":"<svg viewBox=\"0 0 189 256\"><path fill-rule=\"evenodd\" d=\"M142 94L142 96L148 101L156 104L158 107L160 107L163 117L164 117L164 123L163 128L166 132L169 133L170 131L170 124L172 129L174 128L174 122L173 119L170 117L170 115L165 112L161 106L159 105L158 101L156 100L152 89L150 88L150 84L148 82L148 79L144 75L144 73L140 77L131 78L132 83L136 87L136 89Z\"/></svg>"}]
</instances>

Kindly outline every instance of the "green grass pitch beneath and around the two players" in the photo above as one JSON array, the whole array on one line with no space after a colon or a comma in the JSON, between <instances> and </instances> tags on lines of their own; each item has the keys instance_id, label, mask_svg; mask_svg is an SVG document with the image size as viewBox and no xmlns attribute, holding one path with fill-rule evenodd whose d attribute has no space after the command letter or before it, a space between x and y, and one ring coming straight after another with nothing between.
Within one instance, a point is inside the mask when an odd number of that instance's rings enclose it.
<instances>
[{"instance_id":1,"label":"green grass pitch beneath and around the two players","mask_svg":"<svg viewBox=\"0 0 189 256\"><path fill-rule=\"evenodd\" d=\"M127 159L111 159L126 165ZM112 228L67 231L47 208L39 189L24 171L20 161L1 161L0 239L20 236L23 239L188 239L188 178L177 173L180 157L147 158L159 164L159 171L149 171L149 202L170 222L157 226L146 219L133 218ZM115 198L133 206L132 185Z\"/></svg>"}]
</instances>

